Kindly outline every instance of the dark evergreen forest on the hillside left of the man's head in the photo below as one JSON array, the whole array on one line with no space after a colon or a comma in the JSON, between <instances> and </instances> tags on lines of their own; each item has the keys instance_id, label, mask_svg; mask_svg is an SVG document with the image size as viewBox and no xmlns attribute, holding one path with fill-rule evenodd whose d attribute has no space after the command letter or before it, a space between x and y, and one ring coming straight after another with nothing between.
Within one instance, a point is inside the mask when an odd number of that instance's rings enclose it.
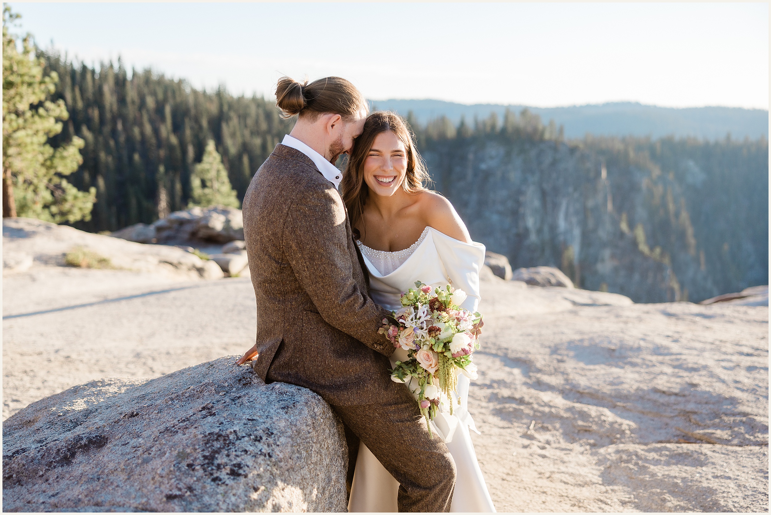
<instances>
[{"instance_id":1,"label":"dark evergreen forest on the hillside left of the man's head","mask_svg":"<svg viewBox=\"0 0 771 515\"><path fill-rule=\"evenodd\" d=\"M260 97L198 91L150 70L129 74L120 59L94 69L56 54L39 56L45 72L59 76L52 99L69 111L52 145L80 138L82 164L71 181L81 190L96 188L91 220L75 224L86 231L150 223L205 201L205 195L194 199L204 178L195 172L209 141L214 147L204 161L217 167L221 156L226 187L242 200L254 172L291 127ZM225 196L231 200L224 204L238 204Z\"/></svg>"}]
</instances>

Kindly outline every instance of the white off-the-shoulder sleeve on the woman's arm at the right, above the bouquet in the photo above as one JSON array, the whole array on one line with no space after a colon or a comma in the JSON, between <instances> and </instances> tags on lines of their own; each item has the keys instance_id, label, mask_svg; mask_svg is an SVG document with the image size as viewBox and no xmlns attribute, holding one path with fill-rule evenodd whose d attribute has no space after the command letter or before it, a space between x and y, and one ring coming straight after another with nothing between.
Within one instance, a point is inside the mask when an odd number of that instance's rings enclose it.
<instances>
[{"instance_id":1,"label":"white off-the-shoulder sleeve on the woman's arm at the right, above the bouquet","mask_svg":"<svg viewBox=\"0 0 771 515\"><path fill-rule=\"evenodd\" d=\"M466 292L468 297L461 308L476 311L480 304L480 270L484 266L485 247L480 243L456 240L431 227L436 251L442 260L453 288Z\"/></svg>"}]
</instances>

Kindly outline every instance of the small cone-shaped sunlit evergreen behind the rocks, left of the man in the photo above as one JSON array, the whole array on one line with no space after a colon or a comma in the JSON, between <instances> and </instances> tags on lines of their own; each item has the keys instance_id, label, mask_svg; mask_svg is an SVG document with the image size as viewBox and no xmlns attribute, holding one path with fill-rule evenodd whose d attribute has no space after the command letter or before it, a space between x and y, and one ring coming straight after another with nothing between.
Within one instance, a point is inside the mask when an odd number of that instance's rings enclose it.
<instances>
[{"instance_id":1,"label":"small cone-shaped sunlit evergreen behind the rocks, left of the man","mask_svg":"<svg viewBox=\"0 0 771 515\"><path fill-rule=\"evenodd\" d=\"M227 170L222 164L222 157L217 153L214 140L206 143L204 157L194 167L190 177L190 189L193 197L190 206L241 207L235 190L231 188L231 181L227 178Z\"/></svg>"}]
</instances>

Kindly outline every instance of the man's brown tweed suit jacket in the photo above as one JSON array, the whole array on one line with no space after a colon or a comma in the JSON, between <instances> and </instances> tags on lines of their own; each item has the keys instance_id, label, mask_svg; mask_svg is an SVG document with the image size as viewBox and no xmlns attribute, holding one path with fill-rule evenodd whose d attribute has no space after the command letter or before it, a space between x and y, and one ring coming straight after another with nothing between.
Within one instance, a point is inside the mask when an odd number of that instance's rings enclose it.
<instances>
[{"instance_id":1,"label":"man's brown tweed suit jacket","mask_svg":"<svg viewBox=\"0 0 771 515\"><path fill-rule=\"evenodd\" d=\"M394 347L378 328L391 313L369 298L338 190L304 153L278 144L254 175L244 238L261 378L305 386L338 406L390 392Z\"/></svg>"}]
</instances>

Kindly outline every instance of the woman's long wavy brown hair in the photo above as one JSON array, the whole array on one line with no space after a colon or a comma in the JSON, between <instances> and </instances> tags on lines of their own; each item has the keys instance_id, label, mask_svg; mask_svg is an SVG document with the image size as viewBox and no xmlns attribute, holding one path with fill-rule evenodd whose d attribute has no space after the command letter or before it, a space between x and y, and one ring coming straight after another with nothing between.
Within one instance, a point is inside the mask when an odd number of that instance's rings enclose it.
<instances>
[{"instance_id":1,"label":"woman's long wavy brown hair","mask_svg":"<svg viewBox=\"0 0 771 515\"><path fill-rule=\"evenodd\" d=\"M348 217L351 219L351 228L356 238L361 237L356 225L362 220L364 205L369 197L369 187L364 180L364 162L372 148L372 143L375 143L375 138L389 130L404 143L407 151L407 173L402 182L402 189L407 194L413 195L426 190L423 184L431 180L426 164L423 163L415 143L412 142L412 134L402 118L389 111L376 111L367 116L364 131L356 138L340 183L342 200L348 208Z\"/></svg>"}]
</instances>

